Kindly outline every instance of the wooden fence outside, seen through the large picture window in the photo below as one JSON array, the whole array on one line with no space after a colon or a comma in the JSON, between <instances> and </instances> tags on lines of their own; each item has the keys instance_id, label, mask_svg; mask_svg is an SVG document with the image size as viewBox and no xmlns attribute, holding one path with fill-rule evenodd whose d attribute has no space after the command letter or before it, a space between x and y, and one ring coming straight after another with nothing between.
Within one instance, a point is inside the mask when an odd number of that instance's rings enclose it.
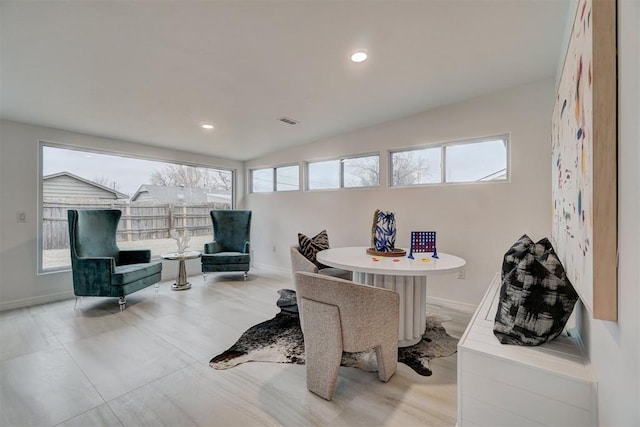
<instances>
[{"instance_id":1,"label":"wooden fence outside, seen through the large picture window","mask_svg":"<svg viewBox=\"0 0 640 427\"><path fill-rule=\"evenodd\" d=\"M172 229L187 230L192 236L213 235L209 211L231 209L229 203L171 204L119 200L55 200L44 201L42 209L42 248L69 247L67 210L119 209L117 240L134 241L169 238Z\"/></svg>"}]
</instances>

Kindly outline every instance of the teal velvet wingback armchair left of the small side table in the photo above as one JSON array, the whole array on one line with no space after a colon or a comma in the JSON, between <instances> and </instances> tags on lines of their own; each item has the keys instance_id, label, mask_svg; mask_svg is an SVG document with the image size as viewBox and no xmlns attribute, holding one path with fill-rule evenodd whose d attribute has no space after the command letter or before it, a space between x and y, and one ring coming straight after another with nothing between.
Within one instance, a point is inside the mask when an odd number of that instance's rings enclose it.
<instances>
[{"instance_id":1,"label":"teal velvet wingback armchair left of the small side table","mask_svg":"<svg viewBox=\"0 0 640 427\"><path fill-rule=\"evenodd\" d=\"M120 250L116 209L69 210L69 248L76 297L120 298L160 281L162 263L151 262L150 250Z\"/></svg>"}]
</instances>

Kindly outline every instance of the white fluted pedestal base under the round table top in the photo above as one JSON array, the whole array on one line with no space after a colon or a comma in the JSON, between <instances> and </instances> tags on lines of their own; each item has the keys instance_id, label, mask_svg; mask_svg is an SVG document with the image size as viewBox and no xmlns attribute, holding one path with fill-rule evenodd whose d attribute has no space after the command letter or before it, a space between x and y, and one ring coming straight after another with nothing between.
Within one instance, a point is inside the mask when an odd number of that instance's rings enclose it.
<instances>
[{"instance_id":1,"label":"white fluted pedestal base under the round table top","mask_svg":"<svg viewBox=\"0 0 640 427\"><path fill-rule=\"evenodd\" d=\"M427 323L426 276L389 276L354 271L353 281L396 291L400 295L398 347L420 342Z\"/></svg>"}]
</instances>

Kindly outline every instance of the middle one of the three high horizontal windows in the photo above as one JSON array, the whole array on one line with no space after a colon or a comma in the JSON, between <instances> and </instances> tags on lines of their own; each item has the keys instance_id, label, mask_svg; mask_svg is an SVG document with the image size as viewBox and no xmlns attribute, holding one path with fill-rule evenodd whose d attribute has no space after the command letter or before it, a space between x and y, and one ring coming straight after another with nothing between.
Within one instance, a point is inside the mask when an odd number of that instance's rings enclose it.
<instances>
[{"instance_id":1,"label":"middle one of the three high horizontal windows","mask_svg":"<svg viewBox=\"0 0 640 427\"><path fill-rule=\"evenodd\" d=\"M377 187L380 184L378 154L307 163L307 189Z\"/></svg>"}]
</instances>

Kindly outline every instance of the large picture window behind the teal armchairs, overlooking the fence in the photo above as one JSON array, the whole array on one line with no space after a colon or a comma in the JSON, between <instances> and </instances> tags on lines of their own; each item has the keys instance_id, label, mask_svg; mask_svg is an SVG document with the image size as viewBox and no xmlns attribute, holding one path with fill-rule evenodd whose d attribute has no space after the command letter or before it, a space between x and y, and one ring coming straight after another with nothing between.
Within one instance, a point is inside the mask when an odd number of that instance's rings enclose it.
<instances>
[{"instance_id":1,"label":"large picture window behind the teal armchairs, overlooking the fence","mask_svg":"<svg viewBox=\"0 0 640 427\"><path fill-rule=\"evenodd\" d=\"M169 235L191 236L200 250L212 239L211 209L233 206L229 170L41 145L40 271L70 266L68 209L120 209L121 249L174 252Z\"/></svg>"}]
</instances>

